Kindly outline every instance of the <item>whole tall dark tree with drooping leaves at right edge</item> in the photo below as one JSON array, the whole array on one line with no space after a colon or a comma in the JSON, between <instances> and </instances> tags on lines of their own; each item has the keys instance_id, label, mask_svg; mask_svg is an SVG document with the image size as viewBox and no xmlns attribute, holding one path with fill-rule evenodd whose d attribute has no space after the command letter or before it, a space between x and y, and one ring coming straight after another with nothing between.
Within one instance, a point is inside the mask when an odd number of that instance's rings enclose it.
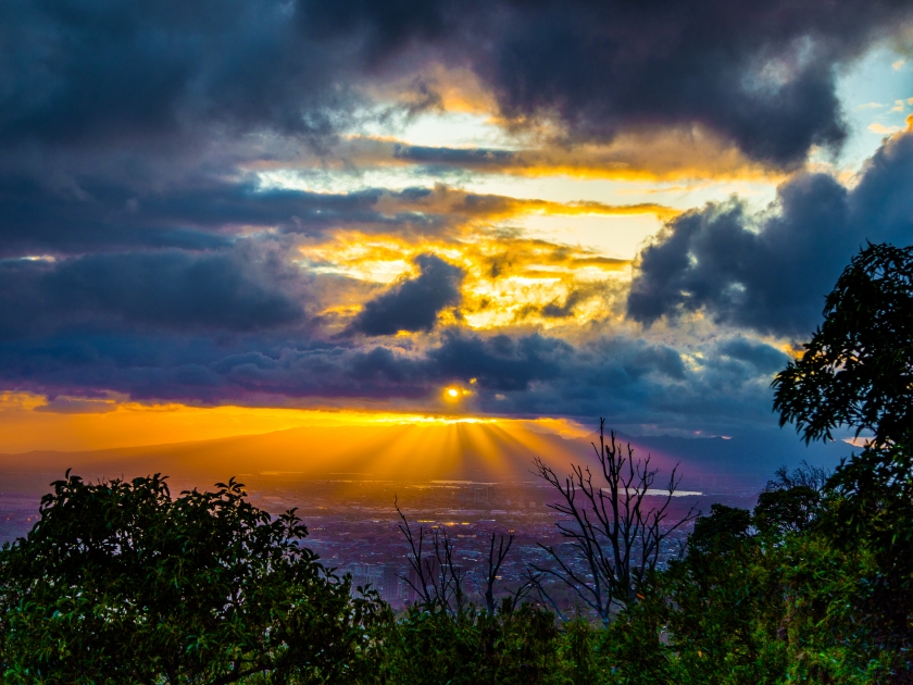
<instances>
[{"instance_id":1,"label":"whole tall dark tree with drooping leaves at right edge","mask_svg":"<svg viewBox=\"0 0 913 685\"><path fill-rule=\"evenodd\" d=\"M824 323L801 359L774 379L780 425L806 441L847 426L872 433L827 483L821 530L839 549L861 548L873 639L911 646L913 618L913 247L868 245L827 296Z\"/></svg>"}]
</instances>

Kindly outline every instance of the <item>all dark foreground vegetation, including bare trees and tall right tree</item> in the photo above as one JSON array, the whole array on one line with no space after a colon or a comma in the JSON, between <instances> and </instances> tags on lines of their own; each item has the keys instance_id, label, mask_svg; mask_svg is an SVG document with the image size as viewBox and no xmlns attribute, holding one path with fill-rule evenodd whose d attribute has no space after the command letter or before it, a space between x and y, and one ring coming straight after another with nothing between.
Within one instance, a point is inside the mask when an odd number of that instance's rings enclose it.
<instances>
[{"instance_id":1,"label":"all dark foreground vegetation, including bare trees and tall right tree","mask_svg":"<svg viewBox=\"0 0 913 685\"><path fill-rule=\"evenodd\" d=\"M779 471L753 511L714 506L664 564L692 516L648 509L655 471L610 435L596 473L536 464L568 544L521 587L497 584L510 537L470 591L445 532L403 515L418 599L398 616L235 482L173 498L159 476L67 474L0 552L3 681L913 683L912 366L913 253L870 246L774 383L784 423L851 426L860 453Z\"/></svg>"}]
</instances>

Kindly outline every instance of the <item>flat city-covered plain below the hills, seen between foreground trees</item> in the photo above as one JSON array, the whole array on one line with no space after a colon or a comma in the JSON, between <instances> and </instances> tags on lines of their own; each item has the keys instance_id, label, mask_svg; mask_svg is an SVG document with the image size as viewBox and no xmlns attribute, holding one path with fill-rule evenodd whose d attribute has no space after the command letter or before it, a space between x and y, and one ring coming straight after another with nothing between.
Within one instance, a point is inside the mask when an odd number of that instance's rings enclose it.
<instances>
[{"instance_id":1,"label":"flat city-covered plain below the hills, seen between foreground trees","mask_svg":"<svg viewBox=\"0 0 913 685\"><path fill-rule=\"evenodd\" d=\"M293 475L283 473L240 475L239 479L257 507L274 514L296 509L309 530L304 546L337 573L350 573L353 588L370 585L395 609L415 599L407 583L409 546L399 527L401 520L395 502L415 534L420 527L428 536L434 530L447 533L471 600L480 599L481 569L488 559L492 533L514 537L499 573L502 591L521 586L534 564L548 565L548 552L540 544L562 544L555 527L561 516L549 508L558 501L558 494L548 484L535 482L531 474L527 482L511 483L396 483L358 474L296 482ZM26 535L38 520L40 495L34 481L37 476L18 478L23 489L32 486L30 493L0 493L3 541ZM179 478L172 479L173 494L191 486ZM723 484L706 493L676 497L668 521L677 521L692 507L709 511L710 505L717 501L750 507L756 494ZM648 506L652 500L663 500L659 494L646 499ZM689 530L690 526L684 527L666 538L661 559L678 555ZM430 552L428 537L425 551Z\"/></svg>"}]
</instances>

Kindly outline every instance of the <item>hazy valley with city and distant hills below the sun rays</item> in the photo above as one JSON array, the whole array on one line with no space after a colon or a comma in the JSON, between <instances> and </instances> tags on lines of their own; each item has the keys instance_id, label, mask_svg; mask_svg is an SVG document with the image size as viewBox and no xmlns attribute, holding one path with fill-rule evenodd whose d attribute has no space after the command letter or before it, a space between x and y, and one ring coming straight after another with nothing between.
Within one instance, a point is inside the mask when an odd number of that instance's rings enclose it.
<instances>
[{"instance_id":1,"label":"hazy valley with city and distant hills below the sun rays","mask_svg":"<svg viewBox=\"0 0 913 685\"><path fill-rule=\"evenodd\" d=\"M470 599L478 600L492 534L513 536L499 572L502 591L520 587L534 566L548 566L541 546L567 544L556 528L561 515L550 508L560 493L536 476L534 459L542 459L562 478L571 464L588 465L598 474L591 445L596 438L512 424L454 423L296 428L99 452L0 454L0 541L28 533L38 520L41 495L66 469L92 482L163 473L170 475L173 495L212 488L234 475L257 507L272 514L296 509L309 530L304 545L325 565L350 573L354 587L370 585L401 609L414 593L405 582L409 546L398 503L416 534L420 528L426 535L447 533L464 588ZM849 449L839 444L805 450L786 432L755 439L620 440L631 443L635 461L649 456L650 468L658 470L645 498L648 509L664 501L663 488L677 468L680 482L666 525L692 510L708 513L714 502L750 508L777 466L791 468L808 457L833 468ZM679 553L690 527L665 538L661 563Z\"/></svg>"}]
</instances>

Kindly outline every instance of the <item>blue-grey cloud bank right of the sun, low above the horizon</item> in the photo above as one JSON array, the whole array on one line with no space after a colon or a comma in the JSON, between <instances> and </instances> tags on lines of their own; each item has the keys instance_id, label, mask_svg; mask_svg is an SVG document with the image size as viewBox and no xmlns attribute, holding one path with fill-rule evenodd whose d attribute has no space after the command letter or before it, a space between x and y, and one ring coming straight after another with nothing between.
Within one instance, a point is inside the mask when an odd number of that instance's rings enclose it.
<instances>
[{"instance_id":1,"label":"blue-grey cloud bank right of the sun, low above the horizon","mask_svg":"<svg viewBox=\"0 0 913 685\"><path fill-rule=\"evenodd\" d=\"M776 353L753 345L756 356ZM689 429L768 423L770 374L716 346L695 366L673 347L624 336L574 346L543 335L453 335L426 358L430 378L475 388L486 412L603 415Z\"/></svg>"}]
</instances>

